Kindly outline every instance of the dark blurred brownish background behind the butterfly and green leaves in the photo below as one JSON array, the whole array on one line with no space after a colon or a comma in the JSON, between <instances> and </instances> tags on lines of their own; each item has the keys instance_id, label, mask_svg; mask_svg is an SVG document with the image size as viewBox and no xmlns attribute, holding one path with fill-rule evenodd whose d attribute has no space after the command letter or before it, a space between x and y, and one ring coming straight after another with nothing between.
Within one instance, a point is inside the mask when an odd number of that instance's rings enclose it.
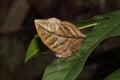
<instances>
[{"instance_id":1,"label":"dark blurred brownish background behind the butterfly and green leaves","mask_svg":"<svg viewBox=\"0 0 120 80\"><path fill-rule=\"evenodd\" d=\"M43 54L24 63L36 34L34 19L80 22L119 9L120 0L0 0L0 80L41 80L45 67L55 58ZM120 37L104 40L77 80L101 80L120 67L119 60Z\"/></svg>"}]
</instances>

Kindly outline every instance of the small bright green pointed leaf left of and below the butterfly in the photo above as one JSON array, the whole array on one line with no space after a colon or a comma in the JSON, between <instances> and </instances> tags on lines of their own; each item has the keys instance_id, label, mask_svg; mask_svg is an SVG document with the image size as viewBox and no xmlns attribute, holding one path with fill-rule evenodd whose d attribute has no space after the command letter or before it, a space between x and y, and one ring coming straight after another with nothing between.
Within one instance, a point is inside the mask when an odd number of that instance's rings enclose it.
<instances>
[{"instance_id":1,"label":"small bright green pointed leaf left of and below the butterfly","mask_svg":"<svg viewBox=\"0 0 120 80\"><path fill-rule=\"evenodd\" d=\"M32 39L28 50L27 50L27 54L26 54L26 58L25 58L25 62L27 62L29 59L40 55L41 52L44 51L45 46L40 46L42 43L40 43L40 38L38 35L35 35L34 38Z\"/></svg>"}]
</instances>

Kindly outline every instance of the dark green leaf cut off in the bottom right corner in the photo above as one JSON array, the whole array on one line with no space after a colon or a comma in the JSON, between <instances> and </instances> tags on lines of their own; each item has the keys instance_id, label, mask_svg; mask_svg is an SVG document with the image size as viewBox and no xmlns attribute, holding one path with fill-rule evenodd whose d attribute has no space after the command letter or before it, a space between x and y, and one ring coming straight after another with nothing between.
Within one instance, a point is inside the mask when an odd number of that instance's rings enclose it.
<instances>
[{"instance_id":1,"label":"dark green leaf cut off in the bottom right corner","mask_svg":"<svg viewBox=\"0 0 120 80\"><path fill-rule=\"evenodd\" d=\"M104 80L120 80L120 69L117 69L109 76L107 76Z\"/></svg>"}]
</instances>

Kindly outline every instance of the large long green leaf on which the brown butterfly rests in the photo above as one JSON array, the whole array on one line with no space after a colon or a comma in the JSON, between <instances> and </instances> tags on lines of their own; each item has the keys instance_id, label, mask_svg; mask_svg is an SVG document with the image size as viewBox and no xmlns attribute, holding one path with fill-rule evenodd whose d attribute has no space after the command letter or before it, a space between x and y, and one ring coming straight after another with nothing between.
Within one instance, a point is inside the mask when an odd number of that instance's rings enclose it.
<instances>
[{"instance_id":1,"label":"large long green leaf on which the brown butterfly rests","mask_svg":"<svg viewBox=\"0 0 120 80\"><path fill-rule=\"evenodd\" d=\"M120 35L119 17L100 21L90 33L86 34L87 38L75 55L59 62L54 60L47 66L43 80L75 80L96 46L104 39L118 35Z\"/></svg>"}]
</instances>

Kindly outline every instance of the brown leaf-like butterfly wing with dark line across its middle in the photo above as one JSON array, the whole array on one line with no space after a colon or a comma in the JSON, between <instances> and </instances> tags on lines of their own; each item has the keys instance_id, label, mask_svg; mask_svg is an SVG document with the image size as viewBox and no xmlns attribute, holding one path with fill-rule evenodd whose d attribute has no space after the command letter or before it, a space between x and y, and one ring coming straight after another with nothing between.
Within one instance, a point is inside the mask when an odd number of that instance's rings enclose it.
<instances>
[{"instance_id":1,"label":"brown leaf-like butterfly wing with dark line across its middle","mask_svg":"<svg viewBox=\"0 0 120 80\"><path fill-rule=\"evenodd\" d=\"M35 26L43 43L56 52L57 57L71 56L85 38L75 25L56 18L35 20Z\"/></svg>"}]
</instances>

